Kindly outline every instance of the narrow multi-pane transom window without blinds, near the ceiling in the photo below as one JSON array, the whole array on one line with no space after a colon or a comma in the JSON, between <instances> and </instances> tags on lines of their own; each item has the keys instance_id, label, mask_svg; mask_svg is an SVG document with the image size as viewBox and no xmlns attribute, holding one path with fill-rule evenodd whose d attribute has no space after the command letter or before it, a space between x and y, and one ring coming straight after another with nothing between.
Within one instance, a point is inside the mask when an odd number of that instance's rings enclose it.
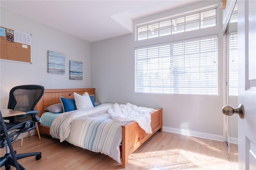
<instances>
[{"instance_id":1,"label":"narrow multi-pane transom window without blinds, near the ceiling","mask_svg":"<svg viewBox=\"0 0 256 170\"><path fill-rule=\"evenodd\" d=\"M137 40L216 26L216 9L137 27Z\"/></svg>"}]
</instances>

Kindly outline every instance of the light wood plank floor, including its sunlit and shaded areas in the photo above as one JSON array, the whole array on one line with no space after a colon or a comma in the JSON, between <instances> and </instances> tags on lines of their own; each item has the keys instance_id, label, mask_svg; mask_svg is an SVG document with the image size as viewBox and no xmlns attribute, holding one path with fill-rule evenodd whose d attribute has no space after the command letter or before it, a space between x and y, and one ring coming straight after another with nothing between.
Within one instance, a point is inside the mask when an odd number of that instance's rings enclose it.
<instances>
[{"instance_id":1,"label":"light wood plank floor, including its sunlit and shaded areas","mask_svg":"<svg viewBox=\"0 0 256 170\"><path fill-rule=\"evenodd\" d=\"M38 140L36 136L25 138L22 147L20 140L13 143L17 153L42 152L40 160L36 160L34 156L18 160L27 170L122 169L119 163L104 154L84 150L68 142L60 143L47 135L42 135L41 138L42 140ZM5 148L0 151L1 156L6 152ZM230 162L224 142L156 132L129 156L126 169L232 170L238 169L236 167L237 162ZM4 170L4 166L1 170Z\"/></svg>"}]
</instances>

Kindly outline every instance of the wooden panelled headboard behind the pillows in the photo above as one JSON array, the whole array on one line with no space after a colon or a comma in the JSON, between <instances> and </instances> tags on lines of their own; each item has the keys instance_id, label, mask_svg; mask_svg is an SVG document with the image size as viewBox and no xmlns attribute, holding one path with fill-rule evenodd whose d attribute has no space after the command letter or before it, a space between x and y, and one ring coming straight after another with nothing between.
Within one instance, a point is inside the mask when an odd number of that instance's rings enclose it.
<instances>
[{"instance_id":1,"label":"wooden panelled headboard behind the pillows","mask_svg":"<svg viewBox=\"0 0 256 170\"><path fill-rule=\"evenodd\" d=\"M38 116L41 117L46 107L60 103L60 96L73 99L74 92L83 95L86 91L89 95L94 95L95 100L95 89L45 89L44 95L37 103L35 110L39 111Z\"/></svg>"}]
</instances>

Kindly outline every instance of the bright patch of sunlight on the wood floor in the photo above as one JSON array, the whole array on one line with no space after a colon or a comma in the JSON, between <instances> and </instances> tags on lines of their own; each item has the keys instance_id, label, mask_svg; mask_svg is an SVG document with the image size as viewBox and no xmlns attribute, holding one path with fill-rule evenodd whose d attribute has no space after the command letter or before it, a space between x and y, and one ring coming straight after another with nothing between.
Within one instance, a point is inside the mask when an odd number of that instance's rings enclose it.
<instances>
[{"instance_id":1,"label":"bright patch of sunlight on the wood floor","mask_svg":"<svg viewBox=\"0 0 256 170\"><path fill-rule=\"evenodd\" d=\"M156 162L156 157L160 161ZM182 149L134 153L129 156L129 164L135 164L144 169L234 169L232 163L228 160L205 156Z\"/></svg>"}]
</instances>

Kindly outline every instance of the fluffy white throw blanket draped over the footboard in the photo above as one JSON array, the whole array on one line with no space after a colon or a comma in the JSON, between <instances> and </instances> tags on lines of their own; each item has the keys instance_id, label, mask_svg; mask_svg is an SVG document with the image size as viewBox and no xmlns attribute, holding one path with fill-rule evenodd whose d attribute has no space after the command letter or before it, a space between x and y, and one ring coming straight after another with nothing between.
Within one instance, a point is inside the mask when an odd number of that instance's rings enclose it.
<instances>
[{"instance_id":1,"label":"fluffy white throw blanket draped over the footboard","mask_svg":"<svg viewBox=\"0 0 256 170\"><path fill-rule=\"evenodd\" d=\"M152 133L150 126L150 113L143 111L136 105L126 103L126 105L118 105L115 103L113 107L108 108L108 114L117 122L132 122L136 121L140 128L145 130L147 134Z\"/></svg>"}]
</instances>

